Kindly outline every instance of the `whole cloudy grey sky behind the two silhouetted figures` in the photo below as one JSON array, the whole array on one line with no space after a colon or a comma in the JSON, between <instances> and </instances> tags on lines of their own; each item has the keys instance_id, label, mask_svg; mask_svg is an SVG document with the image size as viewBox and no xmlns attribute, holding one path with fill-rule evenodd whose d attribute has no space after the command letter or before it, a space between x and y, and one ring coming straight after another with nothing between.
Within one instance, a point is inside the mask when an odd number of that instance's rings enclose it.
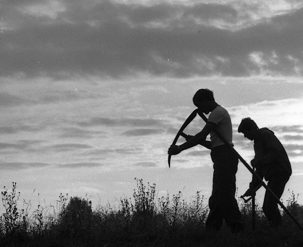
<instances>
[{"instance_id":1,"label":"whole cloudy grey sky behind the two silhouetted figures","mask_svg":"<svg viewBox=\"0 0 303 247\"><path fill-rule=\"evenodd\" d=\"M272 129L293 168L286 190L302 194L302 1L4 0L0 18L1 187L96 204L131 197L137 177L158 197L209 198L208 150L167 164L192 96L209 88L235 149L253 158L242 118ZM203 126L197 117L185 132ZM250 180L239 163L238 196Z\"/></svg>"}]
</instances>

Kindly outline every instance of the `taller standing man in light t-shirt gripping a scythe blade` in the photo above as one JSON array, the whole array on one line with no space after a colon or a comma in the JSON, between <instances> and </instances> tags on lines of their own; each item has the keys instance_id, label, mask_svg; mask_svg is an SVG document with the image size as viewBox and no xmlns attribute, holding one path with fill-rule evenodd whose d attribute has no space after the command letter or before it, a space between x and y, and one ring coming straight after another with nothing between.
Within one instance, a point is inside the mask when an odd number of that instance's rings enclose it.
<instances>
[{"instance_id":1,"label":"taller standing man in light t-shirt gripping a scythe blade","mask_svg":"<svg viewBox=\"0 0 303 247\"><path fill-rule=\"evenodd\" d=\"M231 227L233 232L241 230L241 213L235 199L236 172L238 170L238 158L216 135L214 130L221 133L232 145L232 126L228 112L215 102L213 92L209 89L199 89L193 103L205 114L211 112L208 122L201 132L189 138L182 145L171 145L168 154L179 154L181 151L201 144L211 149L211 159L214 163L213 186L209 198L209 214L206 220L206 229L219 230L223 223ZM211 141L206 141L210 134Z\"/></svg>"}]
</instances>

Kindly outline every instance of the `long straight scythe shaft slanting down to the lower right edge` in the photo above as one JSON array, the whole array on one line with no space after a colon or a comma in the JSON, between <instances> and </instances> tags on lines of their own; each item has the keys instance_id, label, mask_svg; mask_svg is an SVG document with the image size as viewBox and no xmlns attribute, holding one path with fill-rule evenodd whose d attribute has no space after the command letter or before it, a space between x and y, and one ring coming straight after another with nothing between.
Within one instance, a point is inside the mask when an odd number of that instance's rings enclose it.
<instances>
[{"instance_id":1,"label":"long straight scythe shaft slanting down to the lower right edge","mask_svg":"<svg viewBox=\"0 0 303 247\"><path fill-rule=\"evenodd\" d=\"M207 118L205 117L205 115L203 114L203 112L199 111L197 112L199 114L199 116L205 121L207 122ZM261 182L261 185L268 191L271 193L271 195L276 199L277 203L281 206L281 208L284 209L284 211L288 214L289 217L291 217L291 219L297 224L297 226L303 230L303 227L301 226L301 224L295 219L295 217L288 211L288 209L283 205L283 203L281 203L281 201L279 200L279 198L275 195L274 192L272 192L272 190L263 182L263 179L261 179L261 177L259 177L258 174L255 173L255 171L250 167L249 164L247 164L247 162L241 157L240 154L238 154L238 152L235 150L235 148L233 148L233 146L220 134L218 133L216 130L214 130L214 132L218 135L218 137L231 149L231 151L233 151L238 159L245 165L245 167L248 169L248 171L251 172L251 174L253 174L255 177L257 177L257 179Z\"/></svg>"}]
</instances>

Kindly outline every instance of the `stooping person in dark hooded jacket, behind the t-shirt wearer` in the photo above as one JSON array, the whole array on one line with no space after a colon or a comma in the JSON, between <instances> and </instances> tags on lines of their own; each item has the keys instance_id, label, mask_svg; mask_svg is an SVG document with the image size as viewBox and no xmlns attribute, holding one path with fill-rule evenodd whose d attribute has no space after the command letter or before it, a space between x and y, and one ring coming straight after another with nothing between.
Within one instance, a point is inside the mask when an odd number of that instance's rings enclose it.
<instances>
[{"instance_id":1,"label":"stooping person in dark hooded jacket, behind the t-shirt wearer","mask_svg":"<svg viewBox=\"0 0 303 247\"><path fill-rule=\"evenodd\" d=\"M285 184L291 175L291 164L283 145L274 132L268 128L259 129L257 124L250 118L242 119L238 132L243 133L244 137L254 141L255 158L251 161L251 165L256 168L255 172L261 179L264 178L268 181L267 186L280 199ZM254 194L253 190L260 183L253 176L249 189L243 196ZM282 224L278 202L268 191L265 192L262 210L272 226Z\"/></svg>"}]
</instances>

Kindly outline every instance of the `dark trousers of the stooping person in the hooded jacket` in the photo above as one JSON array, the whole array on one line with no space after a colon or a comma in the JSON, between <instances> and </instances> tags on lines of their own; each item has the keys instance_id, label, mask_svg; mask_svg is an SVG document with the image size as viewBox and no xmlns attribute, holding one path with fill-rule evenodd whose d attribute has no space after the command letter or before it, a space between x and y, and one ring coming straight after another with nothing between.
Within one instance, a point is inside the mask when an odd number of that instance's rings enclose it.
<instances>
[{"instance_id":1,"label":"dark trousers of the stooping person in the hooded jacket","mask_svg":"<svg viewBox=\"0 0 303 247\"><path fill-rule=\"evenodd\" d=\"M289 177L282 177L278 174L274 174L271 178L269 178L267 186L271 189L271 191L280 199L285 184L289 180ZM272 196L272 194L266 190L263 207L262 210L267 217L267 219L274 225L279 225L282 222L282 217L280 210L278 210L278 202Z\"/></svg>"}]
</instances>

